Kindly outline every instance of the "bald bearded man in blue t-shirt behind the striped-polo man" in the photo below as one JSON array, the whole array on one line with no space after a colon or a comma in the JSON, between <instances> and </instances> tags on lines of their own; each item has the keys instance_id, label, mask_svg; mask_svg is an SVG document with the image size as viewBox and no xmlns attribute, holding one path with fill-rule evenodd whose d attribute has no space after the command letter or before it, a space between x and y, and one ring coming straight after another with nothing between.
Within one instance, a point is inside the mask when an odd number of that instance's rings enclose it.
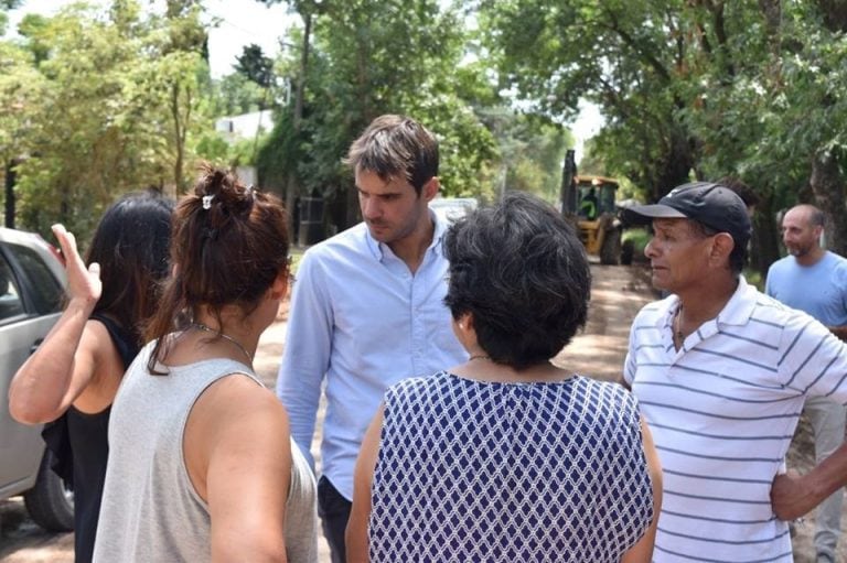
<instances>
[{"instance_id":1,"label":"bald bearded man in blue t-shirt behind the striped-polo man","mask_svg":"<svg viewBox=\"0 0 847 563\"><path fill-rule=\"evenodd\" d=\"M792 207L782 219L782 240L789 256L768 270L765 293L798 308L847 339L847 260L821 247L824 214L812 205ZM815 433L817 463L844 442L845 407L819 397L806 401L804 411ZM818 506L815 549L818 563L836 561L840 534L843 490Z\"/></svg>"}]
</instances>

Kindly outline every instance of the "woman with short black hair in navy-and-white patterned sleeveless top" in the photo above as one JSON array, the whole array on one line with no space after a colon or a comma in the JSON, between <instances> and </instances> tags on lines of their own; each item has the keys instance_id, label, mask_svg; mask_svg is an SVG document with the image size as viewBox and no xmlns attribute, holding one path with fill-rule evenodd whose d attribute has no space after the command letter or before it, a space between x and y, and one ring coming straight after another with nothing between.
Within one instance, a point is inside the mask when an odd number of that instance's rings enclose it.
<instances>
[{"instance_id":1,"label":"woman with short black hair in navy-and-white patterned sleeveless top","mask_svg":"<svg viewBox=\"0 0 847 563\"><path fill-rule=\"evenodd\" d=\"M347 561L648 562L662 483L636 401L549 361L588 316L572 227L510 194L444 250L470 359L387 391L356 466Z\"/></svg>"}]
</instances>

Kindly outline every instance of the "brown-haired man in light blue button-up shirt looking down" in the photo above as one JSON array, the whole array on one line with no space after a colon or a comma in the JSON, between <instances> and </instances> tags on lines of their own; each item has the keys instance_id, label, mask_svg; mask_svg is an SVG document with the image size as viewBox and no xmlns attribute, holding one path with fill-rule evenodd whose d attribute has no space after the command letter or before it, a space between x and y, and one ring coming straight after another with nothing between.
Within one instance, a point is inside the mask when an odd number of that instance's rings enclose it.
<instances>
[{"instance_id":1,"label":"brown-haired man in light blue button-up shirt looking down","mask_svg":"<svg viewBox=\"0 0 847 563\"><path fill-rule=\"evenodd\" d=\"M311 459L325 381L318 502L333 563L345 560L353 469L383 393L467 359L443 304L446 225L428 207L438 160L419 123L376 118L347 154L364 221L310 248L298 268L277 394Z\"/></svg>"}]
</instances>

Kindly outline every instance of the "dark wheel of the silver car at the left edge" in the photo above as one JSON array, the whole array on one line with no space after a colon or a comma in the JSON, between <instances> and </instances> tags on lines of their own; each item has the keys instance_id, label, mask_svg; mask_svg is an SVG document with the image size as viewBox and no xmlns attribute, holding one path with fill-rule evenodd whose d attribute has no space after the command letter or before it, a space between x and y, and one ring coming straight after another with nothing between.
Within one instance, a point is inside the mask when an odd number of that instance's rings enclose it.
<instances>
[{"instance_id":1,"label":"dark wheel of the silver car at the left edge","mask_svg":"<svg viewBox=\"0 0 847 563\"><path fill-rule=\"evenodd\" d=\"M23 494L23 501L32 520L51 532L74 529L74 492L50 468L53 454L44 451L35 486Z\"/></svg>"}]
</instances>

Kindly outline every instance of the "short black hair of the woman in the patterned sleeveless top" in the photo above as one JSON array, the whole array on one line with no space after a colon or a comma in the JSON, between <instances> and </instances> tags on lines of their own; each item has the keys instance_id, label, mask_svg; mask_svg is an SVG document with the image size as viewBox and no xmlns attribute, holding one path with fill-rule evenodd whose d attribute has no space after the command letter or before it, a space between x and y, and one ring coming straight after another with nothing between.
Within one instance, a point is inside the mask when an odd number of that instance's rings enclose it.
<instances>
[{"instance_id":1,"label":"short black hair of the woman in the patterned sleeveless top","mask_svg":"<svg viewBox=\"0 0 847 563\"><path fill-rule=\"evenodd\" d=\"M480 346L516 369L548 361L586 324L591 272L573 227L545 202L508 193L444 237L453 318L473 315Z\"/></svg>"}]
</instances>

